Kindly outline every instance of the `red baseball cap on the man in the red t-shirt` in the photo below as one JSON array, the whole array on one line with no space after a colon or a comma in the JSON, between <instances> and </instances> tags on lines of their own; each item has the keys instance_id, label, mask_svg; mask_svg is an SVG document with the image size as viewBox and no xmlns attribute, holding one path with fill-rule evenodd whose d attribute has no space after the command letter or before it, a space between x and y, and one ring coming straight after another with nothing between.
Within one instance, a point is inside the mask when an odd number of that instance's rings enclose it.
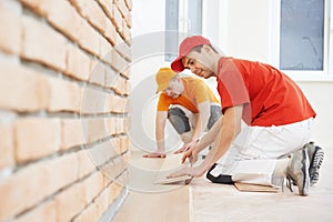
<instances>
[{"instance_id":1,"label":"red baseball cap on the man in the red t-shirt","mask_svg":"<svg viewBox=\"0 0 333 222\"><path fill-rule=\"evenodd\" d=\"M171 63L171 69L175 72L181 72L184 70L184 65L182 63L182 59L189 54L189 52L201 44L209 44L211 46L210 40L208 40L204 37L201 36L192 36L192 37L188 37L185 38L182 43L179 47L179 57L173 60L173 62Z\"/></svg>"}]
</instances>

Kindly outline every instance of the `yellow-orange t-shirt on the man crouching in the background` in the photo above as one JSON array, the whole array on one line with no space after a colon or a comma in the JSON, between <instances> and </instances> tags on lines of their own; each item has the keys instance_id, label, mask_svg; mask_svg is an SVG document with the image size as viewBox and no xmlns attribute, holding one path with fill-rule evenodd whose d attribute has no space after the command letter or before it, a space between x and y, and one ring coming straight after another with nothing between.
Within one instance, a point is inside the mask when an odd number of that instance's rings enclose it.
<instances>
[{"instance_id":1,"label":"yellow-orange t-shirt on the man crouching in the background","mask_svg":"<svg viewBox=\"0 0 333 222\"><path fill-rule=\"evenodd\" d=\"M209 101L210 103L220 104L220 101L215 98L214 93L209 85L204 83L204 81L191 77L180 79L184 85L183 93L173 99L162 92L158 102L158 111L168 111L171 104L181 104L191 110L193 113L198 113L198 104L201 102Z\"/></svg>"}]
</instances>

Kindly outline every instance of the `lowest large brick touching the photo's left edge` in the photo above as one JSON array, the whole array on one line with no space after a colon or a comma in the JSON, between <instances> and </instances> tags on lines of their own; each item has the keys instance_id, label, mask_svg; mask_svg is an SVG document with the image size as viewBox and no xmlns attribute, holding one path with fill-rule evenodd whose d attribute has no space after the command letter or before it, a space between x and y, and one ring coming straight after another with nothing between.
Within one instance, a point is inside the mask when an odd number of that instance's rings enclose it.
<instances>
[{"instance_id":1,"label":"lowest large brick touching the photo's left edge","mask_svg":"<svg viewBox=\"0 0 333 222\"><path fill-rule=\"evenodd\" d=\"M69 154L57 160L30 164L13 175L1 178L0 221L23 212L75 181L77 159L75 154Z\"/></svg>"}]
</instances>

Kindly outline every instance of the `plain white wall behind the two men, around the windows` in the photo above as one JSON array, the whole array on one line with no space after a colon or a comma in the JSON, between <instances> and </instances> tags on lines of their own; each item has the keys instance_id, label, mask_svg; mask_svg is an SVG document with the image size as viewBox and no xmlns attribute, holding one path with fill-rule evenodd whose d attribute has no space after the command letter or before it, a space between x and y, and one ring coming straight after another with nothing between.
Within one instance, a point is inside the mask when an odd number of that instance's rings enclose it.
<instances>
[{"instance_id":1,"label":"plain white wall behind the two men, around the windows","mask_svg":"<svg viewBox=\"0 0 333 222\"><path fill-rule=\"evenodd\" d=\"M164 0L133 1L133 38L164 29ZM271 36L270 0L204 0L203 3L203 36L211 39L214 46L228 56L273 62L271 52L278 46ZM137 47L142 49L145 46ZM137 61L132 69L133 85L142 81L144 75L153 74L161 65L169 65L163 57ZM314 140L324 147L333 147L333 133L330 129L333 125L333 82L297 83L317 112ZM147 122L153 127L153 113Z\"/></svg>"}]
</instances>

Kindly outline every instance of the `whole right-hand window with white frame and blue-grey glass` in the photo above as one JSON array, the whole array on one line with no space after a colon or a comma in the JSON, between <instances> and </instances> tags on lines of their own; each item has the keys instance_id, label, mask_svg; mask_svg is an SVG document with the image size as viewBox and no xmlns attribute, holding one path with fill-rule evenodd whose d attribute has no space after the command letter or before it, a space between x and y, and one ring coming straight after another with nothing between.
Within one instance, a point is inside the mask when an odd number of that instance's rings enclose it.
<instances>
[{"instance_id":1,"label":"whole right-hand window with white frame and blue-grey glass","mask_svg":"<svg viewBox=\"0 0 333 222\"><path fill-rule=\"evenodd\" d=\"M278 46L272 50L273 63L295 80L333 80L329 69L333 65L330 0L271 2L275 12L272 44Z\"/></svg>"}]
</instances>

